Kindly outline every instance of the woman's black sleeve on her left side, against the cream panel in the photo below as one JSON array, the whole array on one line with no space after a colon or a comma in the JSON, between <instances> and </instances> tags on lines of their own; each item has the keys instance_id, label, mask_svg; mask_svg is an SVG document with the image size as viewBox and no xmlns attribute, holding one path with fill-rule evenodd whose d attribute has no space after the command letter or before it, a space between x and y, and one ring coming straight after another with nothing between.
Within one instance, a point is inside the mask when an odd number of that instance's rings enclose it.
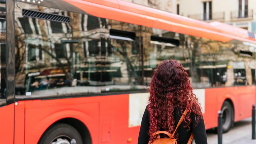
<instances>
[{"instance_id":1,"label":"woman's black sleeve on her left side, against the cream panel","mask_svg":"<svg viewBox=\"0 0 256 144\"><path fill-rule=\"evenodd\" d=\"M141 129L139 133L138 144L148 144L148 140L150 138L148 135L149 125L149 113L147 109L145 109L141 121Z\"/></svg>"}]
</instances>

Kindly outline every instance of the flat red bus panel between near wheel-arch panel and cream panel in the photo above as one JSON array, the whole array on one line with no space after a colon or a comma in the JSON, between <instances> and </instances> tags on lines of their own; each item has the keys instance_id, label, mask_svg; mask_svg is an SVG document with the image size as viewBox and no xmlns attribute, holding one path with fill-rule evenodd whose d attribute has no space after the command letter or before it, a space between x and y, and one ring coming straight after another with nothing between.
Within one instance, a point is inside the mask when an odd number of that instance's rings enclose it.
<instances>
[{"instance_id":1,"label":"flat red bus panel between near wheel-arch panel and cream panel","mask_svg":"<svg viewBox=\"0 0 256 144\"><path fill-rule=\"evenodd\" d=\"M129 94L101 98L100 143L126 143L131 138L133 132L128 131L128 112Z\"/></svg>"}]
</instances>

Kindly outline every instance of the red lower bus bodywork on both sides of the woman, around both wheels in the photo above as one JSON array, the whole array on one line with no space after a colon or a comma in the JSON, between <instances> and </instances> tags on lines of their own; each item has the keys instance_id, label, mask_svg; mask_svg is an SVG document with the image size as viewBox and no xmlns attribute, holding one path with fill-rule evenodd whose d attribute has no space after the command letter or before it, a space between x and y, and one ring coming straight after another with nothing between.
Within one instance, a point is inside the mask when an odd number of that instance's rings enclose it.
<instances>
[{"instance_id":1,"label":"red lower bus bodywork on both sides of the woman, around both wheels","mask_svg":"<svg viewBox=\"0 0 256 144\"><path fill-rule=\"evenodd\" d=\"M251 116L255 86L205 89L205 125L217 126L217 112L230 99L235 121ZM89 129L93 143L137 143L139 126L129 128L129 94L66 98L55 100L19 101L16 107L15 144L22 143L22 104L25 103L25 143L37 143L44 131L63 118L75 118ZM241 107L242 106L242 107ZM242 113L242 115L240 115ZM16 131L17 130L17 131ZM36 130L36 132L35 132Z\"/></svg>"}]
</instances>

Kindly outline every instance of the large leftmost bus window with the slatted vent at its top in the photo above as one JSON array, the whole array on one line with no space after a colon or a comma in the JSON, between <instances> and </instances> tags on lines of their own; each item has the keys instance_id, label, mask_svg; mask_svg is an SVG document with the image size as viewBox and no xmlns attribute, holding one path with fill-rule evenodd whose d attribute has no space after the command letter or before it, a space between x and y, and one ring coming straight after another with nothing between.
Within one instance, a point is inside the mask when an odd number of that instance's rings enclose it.
<instances>
[{"instance_id":1,"label":"large leftmost bus window with the slatted vent at its top","mask_svg":"<svg viewBox=\"0 0 256 144\"><path fill-rule=\"evenodd\" d=\"M30 9L63 18L52 21L23 14ZM16 98L100 93L100 32L98 17L16 6Z\"/></svg>"}]
</instances>

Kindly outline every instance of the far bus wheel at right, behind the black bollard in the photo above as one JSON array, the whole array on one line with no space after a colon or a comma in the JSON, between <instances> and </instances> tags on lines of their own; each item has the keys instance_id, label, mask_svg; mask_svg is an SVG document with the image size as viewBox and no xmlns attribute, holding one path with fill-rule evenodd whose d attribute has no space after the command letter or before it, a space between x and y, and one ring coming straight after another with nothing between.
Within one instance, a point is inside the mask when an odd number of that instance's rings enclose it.
<instances>
[{"instance_id":1,"label":"far bus wheel at right, behind the black bollard","mask_svg":"<svg viewBox=\"0 0 256 144\"><path fill-rule=\"evenodd\" d=\"M228 101L224 101L221 107L221 111L222 111L223 133L226 133L232 127L234 110Z\"/></svg>"}]
</instances>

